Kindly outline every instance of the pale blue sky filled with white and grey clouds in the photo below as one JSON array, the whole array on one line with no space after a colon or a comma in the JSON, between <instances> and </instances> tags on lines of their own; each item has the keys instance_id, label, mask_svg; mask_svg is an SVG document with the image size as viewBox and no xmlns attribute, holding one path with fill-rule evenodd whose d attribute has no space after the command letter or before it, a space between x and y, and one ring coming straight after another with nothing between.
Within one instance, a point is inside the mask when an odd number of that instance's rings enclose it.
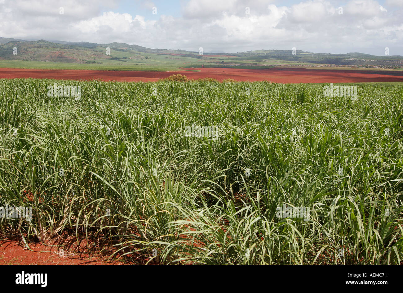
<instances>
[{"instance_id":1,"label":"pale blue sky filled with white and grey clouds","mask_svg":"<svg viewBox=\"0 0 403 293\"><path fill-rule=\"evenodd\" d=\"M403 55L403 0L0 0L0 37Z\"/></svg>"}]
</instances>

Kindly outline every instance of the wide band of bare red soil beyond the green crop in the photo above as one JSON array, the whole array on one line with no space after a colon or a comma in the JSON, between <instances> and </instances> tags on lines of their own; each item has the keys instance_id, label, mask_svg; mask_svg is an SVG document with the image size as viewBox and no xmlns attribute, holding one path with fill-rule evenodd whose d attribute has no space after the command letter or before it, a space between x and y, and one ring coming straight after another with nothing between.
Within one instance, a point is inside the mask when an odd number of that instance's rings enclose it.
<instances>
[{"instance_id":1,"label":"wide band of bare red soil beyond the green crop","mask_svg":"<svg viewBox=\"0 0 403 293\"><path fill-rule=\"evenodd\" d=\"M119 82L155 82L172 74L181 73L190 79L212 77L217 80L232 78L237 81L263 81L280 83L327 82L403 82L403 71L306 69L306 68L192 68L190 71L104 71L0 68L0 78L53 78L56 80L102 80Z\"/></svg>"}]
</instances>

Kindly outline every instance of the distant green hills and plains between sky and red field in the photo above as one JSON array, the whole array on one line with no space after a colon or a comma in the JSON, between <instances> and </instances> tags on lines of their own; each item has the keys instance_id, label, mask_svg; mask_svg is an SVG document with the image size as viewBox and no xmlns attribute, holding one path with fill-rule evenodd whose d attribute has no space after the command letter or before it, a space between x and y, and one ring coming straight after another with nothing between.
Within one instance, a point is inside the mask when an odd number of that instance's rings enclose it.
<instances>
[{"instance_id":1,"label":"distant green hills and plains between sky and red field","mask_svg":"<svg viewBox=\"0 0 403 293\"><path fill-rule=\"evenodd\" d=\"M14 50L17 48L17 52ZM108 52L108 48L110 52ZM359 52L347 54L313 53L301 50L253 50L224 53L152 49L113 42L26 41L0 37L0 59L98 65L125 65L133 68L175 69L181 67L267 67L280 65L357 65L361 67L403 67L402 56L374 56ZM27 64L27 63L21 63ZM21 65L23 66L23 65Z\"/></svg>"}]
</instances>

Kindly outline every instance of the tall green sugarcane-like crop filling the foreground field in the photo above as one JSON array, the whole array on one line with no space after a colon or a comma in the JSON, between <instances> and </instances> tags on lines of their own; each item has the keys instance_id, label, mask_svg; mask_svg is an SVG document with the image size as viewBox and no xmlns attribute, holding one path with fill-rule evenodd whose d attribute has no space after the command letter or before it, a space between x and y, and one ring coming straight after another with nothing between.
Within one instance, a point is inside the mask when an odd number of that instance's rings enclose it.
<instances>
[{"instance_id":1,"label":"tall green sugarcane-like crop filling the foreground field","mask_svg":"<svg viewBox=\"0 0 403 293\"><path fill-rule=\"evenodd\" d=\"M0 234L135 264L402 264L403 88L323 92L2 79L0 207L32 220Z\"/></svg>"}]
</instances>

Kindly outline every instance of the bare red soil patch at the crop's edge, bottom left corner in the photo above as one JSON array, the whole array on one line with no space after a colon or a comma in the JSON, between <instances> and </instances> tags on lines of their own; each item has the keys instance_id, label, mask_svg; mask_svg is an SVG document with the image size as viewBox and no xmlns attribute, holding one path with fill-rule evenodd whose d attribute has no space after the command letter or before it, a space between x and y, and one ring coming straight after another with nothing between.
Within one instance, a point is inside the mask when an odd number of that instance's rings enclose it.
<instances>
[{"instance_id":1,"label":"bare red soil patch at the crop's edge, bottom left corner","mask_svg":"<svg viewBox=\"0 0 403 293\"><path fill-rule=\"evenodd\" d=\"M0 241L0 265L122 265L100 257L90 257L84 253L61 251L57 246L24 244L13 240Z\"/></svg>"}]
</instances>

